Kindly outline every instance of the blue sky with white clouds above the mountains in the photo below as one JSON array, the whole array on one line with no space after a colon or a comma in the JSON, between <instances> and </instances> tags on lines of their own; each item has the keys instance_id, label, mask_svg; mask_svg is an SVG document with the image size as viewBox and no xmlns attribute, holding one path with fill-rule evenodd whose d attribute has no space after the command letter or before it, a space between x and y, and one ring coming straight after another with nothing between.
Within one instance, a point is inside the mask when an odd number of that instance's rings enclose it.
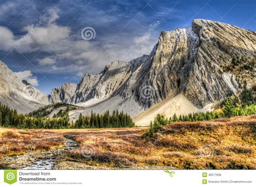
<instances>
[{"instance_id":1,"label":"blue sky with white clouds above the mountains","mask_svg":"<svg viewBox=\"0 0 256 187\"><path fill-rule=\"evenodd\" d=\"M1 1L0 59L44 93L113 60L149 54L161 31L210 19L255 31L256 1ZM155 25L150 34L149 28ZM85 35L83 28L92 35ZM85 29L85 31L86 31Z\"/></svg>"}]
</instances>

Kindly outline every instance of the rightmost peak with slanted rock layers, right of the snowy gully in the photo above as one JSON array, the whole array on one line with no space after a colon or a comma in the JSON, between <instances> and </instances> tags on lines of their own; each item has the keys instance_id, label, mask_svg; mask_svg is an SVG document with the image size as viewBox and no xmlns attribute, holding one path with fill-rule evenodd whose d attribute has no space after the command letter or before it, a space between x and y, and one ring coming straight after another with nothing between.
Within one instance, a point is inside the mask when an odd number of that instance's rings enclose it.
<instances>
[{"instance_id":1,"label":"rightmost peak with slanted rock layers, right of the snowy gully","mask_svg":"<svg viewBox=\"0 0 256 187\"><path fill-rule=\"evenodd\" d=\"M203 107L239 91L235 77L222 67L230 64L234 55L255 59L256 35L236 26L203 19L193 20L192 28L200 45L184 95L196 106ZM250 79L255 82L255 77Z\"/></svg>"}]
</instances>

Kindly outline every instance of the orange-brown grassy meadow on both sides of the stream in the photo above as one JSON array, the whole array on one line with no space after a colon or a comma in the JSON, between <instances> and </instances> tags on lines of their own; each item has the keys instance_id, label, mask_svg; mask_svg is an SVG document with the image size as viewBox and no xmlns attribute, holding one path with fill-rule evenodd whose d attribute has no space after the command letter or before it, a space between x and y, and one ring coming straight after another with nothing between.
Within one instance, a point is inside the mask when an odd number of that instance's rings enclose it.
<instances>
[{"instance_id":1,"label":"orange-brown grassy meadow on both sides of the stream","mask_svg":"<svg viewBox=\"0 0 256 187\"><path fill-rule=\"evenodd\" d=\"M0 155L63 146L65 136L80 142L76 150L67 150L59 158L59 163L68 163L65 169L72 169L72 164L109 169L256 169L255 130L256 116L172 123L161 127L153 137L145 136L147 127L99 130L0 128ZM31 145L32 140L38 141L38 146Z\"/></svg>"}]
</instances>

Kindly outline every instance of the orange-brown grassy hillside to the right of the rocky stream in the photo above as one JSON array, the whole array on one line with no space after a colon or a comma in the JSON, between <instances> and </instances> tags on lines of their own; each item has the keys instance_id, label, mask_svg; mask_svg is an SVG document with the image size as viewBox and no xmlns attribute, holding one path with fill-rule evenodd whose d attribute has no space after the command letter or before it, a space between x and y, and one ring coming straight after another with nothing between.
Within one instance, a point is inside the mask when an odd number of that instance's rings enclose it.
<instances>
[{"instance_id":1,"label":"orange-brown grassy hillside to the right of the rocky stream","mask_svg":"<svg viewBox=\"0 0 256 187\"><path fill-rule=\"evenodd\" d=\"M255 124L255 116L172 123L152 138L136 129L66 132L82 145L56 168L79 162L105 168L256 169ZM95 151L90 158L81 155L87 142Z\"/></svg>"}]
</instances>

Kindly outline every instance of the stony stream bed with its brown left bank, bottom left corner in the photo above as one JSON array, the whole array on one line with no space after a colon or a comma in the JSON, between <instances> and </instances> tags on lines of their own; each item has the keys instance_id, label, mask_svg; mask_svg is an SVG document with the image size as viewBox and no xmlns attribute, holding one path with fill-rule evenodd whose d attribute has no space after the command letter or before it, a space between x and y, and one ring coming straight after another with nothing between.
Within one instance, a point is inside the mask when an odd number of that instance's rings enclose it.
<instances>
[{"instance_id":1,"label":"stony stream bed with its brown left bank, bottom left corner","mask_svg":"<svg viewBox=\"0 0 256 187\"><path fill-rule=\"evenodd\" d=\"M79 143L65 138L65 147L40 153L26 153L19 156L6 156L0 161L0 169L52 169L65 150L75 150Z\"/></svg>"}]
</instances>

